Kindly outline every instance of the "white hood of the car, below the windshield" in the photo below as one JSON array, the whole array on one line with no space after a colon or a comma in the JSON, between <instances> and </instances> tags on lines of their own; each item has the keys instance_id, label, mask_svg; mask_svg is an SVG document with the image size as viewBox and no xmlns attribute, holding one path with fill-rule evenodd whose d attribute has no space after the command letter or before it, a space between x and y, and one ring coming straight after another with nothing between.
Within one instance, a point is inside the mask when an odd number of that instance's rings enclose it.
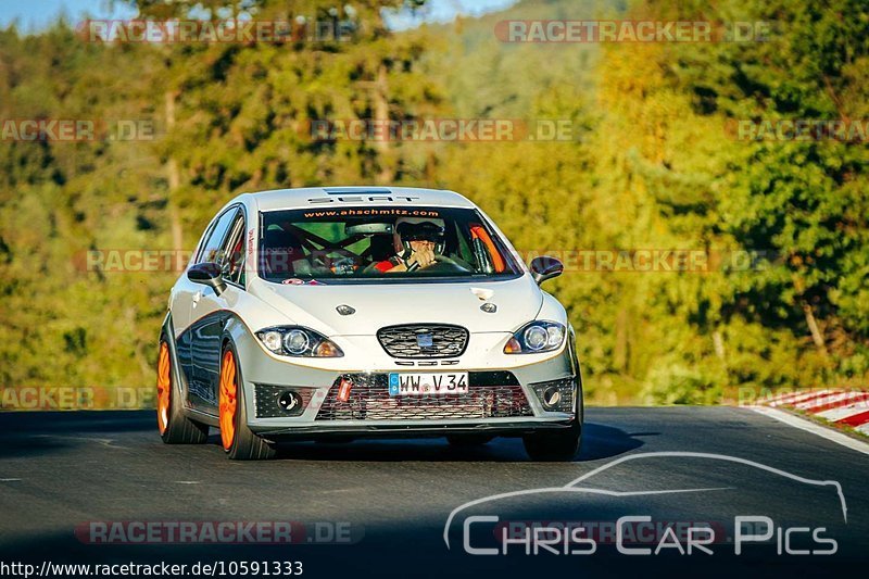
<instances>
[{"instance_id":1,"label":"white hood of the car, below the windshield","mask_svg":"<svg viewBox=\"0 0 869 579\"><path fill-rule=\"evenodd\" d=\"M471 332L514 331L534 319L543 292L530 276L482 284L280 285L257 280L251 292L295 324L327 336L371 336L396 324L455 324ZM498 310L487 313L483 303ZM341 315L336 307L355 310Z\"/></svg>"}]
</instances>

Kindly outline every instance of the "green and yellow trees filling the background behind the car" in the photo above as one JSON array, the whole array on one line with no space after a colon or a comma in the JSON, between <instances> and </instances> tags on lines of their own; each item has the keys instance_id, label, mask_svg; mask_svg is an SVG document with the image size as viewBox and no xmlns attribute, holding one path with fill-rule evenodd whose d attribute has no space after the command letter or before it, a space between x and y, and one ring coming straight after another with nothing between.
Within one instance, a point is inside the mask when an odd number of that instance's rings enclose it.
<instances>
[{"instance_id":1,"label":"green and yellow trees filling the background behind the car","mask_svg":"<svg viewBox=\"0 0 869 579\"><path fill-rule=\"evenodd\" d=\"M105 45L0 30L0 118L147 118L153 141L0 140L0 385L153 381L176 272L89 249L190 248L241 191L399 184L468 194L520 250L761 251L750 269L569 270L587 391L696 404L739 387L866 385L866 142L741 140L741 121L869 118L861 0L520 2L393 33L399 0L128 1L143 17L340 17L350 42ZM197 4L199 4L197 7ZM419 4L419 2L415 2ZM191 7L194 12L191 13ZM764 42L507 45L503 20L768 21ZM539 142L318 141L349 118L567 119Z\"/></svg>"}]
</instances>

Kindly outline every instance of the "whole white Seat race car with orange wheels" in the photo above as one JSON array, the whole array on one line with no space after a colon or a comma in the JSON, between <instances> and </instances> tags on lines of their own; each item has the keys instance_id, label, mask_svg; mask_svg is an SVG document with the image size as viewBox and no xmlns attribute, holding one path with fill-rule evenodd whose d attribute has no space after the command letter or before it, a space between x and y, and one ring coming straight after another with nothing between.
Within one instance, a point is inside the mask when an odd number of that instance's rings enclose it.
<instances>
[{"instance_id":1,"label":"whole white Seat race car with orange wheels","mask_svg":"<svg viewBox=\"0 0 869 579\"><path fill-rule=\"evenodd\" d=\"M158 358L167 443L221 429L230 458L287 440L522 437L569 461L582 378L564 307L458 193L245 193L209 224L169 297Z\"/></svg>"}]
</instances>

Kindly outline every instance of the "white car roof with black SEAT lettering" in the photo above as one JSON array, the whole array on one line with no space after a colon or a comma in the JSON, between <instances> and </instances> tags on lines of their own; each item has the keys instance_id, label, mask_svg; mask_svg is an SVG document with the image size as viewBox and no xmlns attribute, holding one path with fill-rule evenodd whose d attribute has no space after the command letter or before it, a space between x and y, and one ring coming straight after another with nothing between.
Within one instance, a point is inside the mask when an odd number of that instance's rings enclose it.
<instances>
[{"instance_id":1,"label":"white car roof with black SEAT lettering","mask_svg":"<svg viewBox=\"0 0 869 579\"><path fill-rule=\"evenodd\" d=\"M255 193L243 193L227 205L238 202L252 202L260 211L284 209L307 209L368 204L410 204L440 207L476 207L467 198L444 189L421 189L416 187L305 187L299 189L274 189Z\"/></svg>"}]
</instances>

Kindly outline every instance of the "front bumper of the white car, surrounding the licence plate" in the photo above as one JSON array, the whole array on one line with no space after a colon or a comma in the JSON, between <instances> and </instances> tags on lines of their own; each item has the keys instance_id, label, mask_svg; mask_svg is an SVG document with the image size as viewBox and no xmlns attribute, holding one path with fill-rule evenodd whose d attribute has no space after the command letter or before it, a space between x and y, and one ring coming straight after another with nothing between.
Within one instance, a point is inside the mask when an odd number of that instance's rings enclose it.
<instances>
[{"instance_id":1,"label":"front bumper of the white car, surrounding the licence plate","mask_svg":"<svg viewBox=\"0 0 869 579\"><path fill-rule=\"evenodd\" d=\"M345 358L310 361L275 356L250 333L237 335L234 340L243 369L248 426L264 438L279 441L332 436L521 436L569 428L577 414L581 420L582 383L571 348L566 345L549 355L502 354L501 341L508 338L506 333L486 336L491 345L484 360L463 356L450 365L407 367L381 355L379 344L370 349L373 355L364 364ZM383 380L394 372L467 372L469 394L425 400L389 398ZM356 385L347 402L336 401L342 377L351 377ZM569 404L546 410L540 395L545 383L557 383L565 394L569 392ZM281 412L275 400L286 391L300 394L302 407Z\"/></svg>"}]
</instances>

